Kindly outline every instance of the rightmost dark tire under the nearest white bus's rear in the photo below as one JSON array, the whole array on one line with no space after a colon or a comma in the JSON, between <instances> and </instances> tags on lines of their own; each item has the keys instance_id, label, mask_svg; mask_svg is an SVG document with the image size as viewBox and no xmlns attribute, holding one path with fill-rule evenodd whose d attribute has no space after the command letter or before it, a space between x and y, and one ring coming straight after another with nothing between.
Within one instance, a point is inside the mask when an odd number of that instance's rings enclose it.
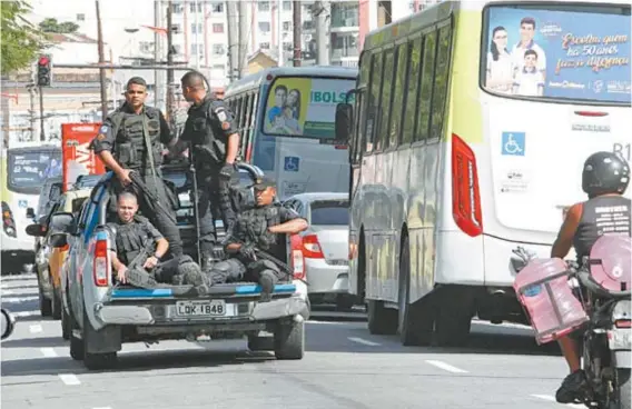
<instances>
[{"instance_id":1,"label":"rightmost dark tire under the nearest white bus's rear","mask_svg":"<svg viewBox=\"0 0 632 409\"><path fill-rule=\"evenodd\" d=\"M445 287L437 291L436 341L441 347L462 347L467 343L472 326L474 297L463 287ZM441 301L440 301L441 300Z\"/></svg>"}]
</instances>

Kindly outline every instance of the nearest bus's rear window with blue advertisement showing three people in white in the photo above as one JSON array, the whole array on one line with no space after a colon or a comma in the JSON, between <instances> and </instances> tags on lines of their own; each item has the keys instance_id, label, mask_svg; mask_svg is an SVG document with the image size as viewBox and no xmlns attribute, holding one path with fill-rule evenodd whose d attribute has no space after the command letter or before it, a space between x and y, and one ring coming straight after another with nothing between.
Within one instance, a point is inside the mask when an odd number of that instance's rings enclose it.
<instances>
[{"instance_id":1,"label":"nearest bus's rear window with blue advertisement showing three people in white","mask_svg":"<svg viewBox=\"0 0 632 409\"><path fill-rule=\"evenodd\" d=\"M629 104L630 6L492 6L483 88L500 94Z\"/></svg>"}]
</instances>

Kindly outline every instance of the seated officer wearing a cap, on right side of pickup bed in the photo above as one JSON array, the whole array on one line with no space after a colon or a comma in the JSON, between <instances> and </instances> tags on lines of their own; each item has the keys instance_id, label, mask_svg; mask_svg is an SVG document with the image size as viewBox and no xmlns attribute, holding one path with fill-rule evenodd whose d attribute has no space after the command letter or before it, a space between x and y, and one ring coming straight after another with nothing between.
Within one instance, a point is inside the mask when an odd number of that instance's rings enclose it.
<instances>
[{"instance_id":1,"label":"seated officer wearing a cap, on right side of pickup bed","mask_svg":"<svg viewBox=\"0 0 632 409\"><path fill-rule=\"evenodd\" d=\"M210 285L255 281L261 286L263 300L269 299L274 286L288 278L279 266L257 256L255 249L284 260L285 235L307 229L307 220L294 210L274 203L276 184L269 178L259 179L254 186L257 205L241 212L225 247L228 260L216 263L210 270Z\"/></svg>"}]
</instances>

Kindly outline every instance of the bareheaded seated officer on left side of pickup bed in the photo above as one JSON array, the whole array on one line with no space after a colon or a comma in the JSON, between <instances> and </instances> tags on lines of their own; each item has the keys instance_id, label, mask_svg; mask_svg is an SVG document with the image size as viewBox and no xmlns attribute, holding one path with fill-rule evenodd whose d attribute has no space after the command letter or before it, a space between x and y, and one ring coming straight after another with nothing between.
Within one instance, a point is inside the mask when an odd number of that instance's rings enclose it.
<instances>
[{"instance_id":1,"label":"bareheaded seated officer on left side of pickup bed","mask_svg":"<svg viewBox=\"0 0 632 409\"><path fill-rule=\"evenodd\" d=\"M196 269L198 275L201 275L199 266L188 256L160 263L160 259L169 249L169 242L149 220L136 213L138 201L134 193L120 193L117 205L118 219L107 223L106 228L113 237L110 258L119 282L155 288L158 282L185 283L182 277L192 279L190 275L195 273ZM128 267L144 251L144 256L136 260L137 266L130 271ZM154 270L154 275L150 276L146 269Z\"/></svg>"}]
</instances>

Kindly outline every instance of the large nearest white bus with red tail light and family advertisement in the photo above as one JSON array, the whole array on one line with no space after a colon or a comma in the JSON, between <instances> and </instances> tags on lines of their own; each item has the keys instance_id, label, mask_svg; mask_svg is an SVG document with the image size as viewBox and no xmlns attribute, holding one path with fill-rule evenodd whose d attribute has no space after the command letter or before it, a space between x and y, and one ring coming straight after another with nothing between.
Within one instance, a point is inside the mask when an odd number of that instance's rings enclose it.
<instances>
[{"instance_id":1,"label":"large nearest white bus with red tail light and family advertisement","mask_svg":"<svg viewBox=\"0 0 632 409\"><path fill-rule=\"evenodd\" d=\"M512 250L550 256L590 153L630 160L630 22L615 0L446 1L368 34L349 291L373 333L454 345L474 316L525 322Z\"/></svg>"}]
</instances>

